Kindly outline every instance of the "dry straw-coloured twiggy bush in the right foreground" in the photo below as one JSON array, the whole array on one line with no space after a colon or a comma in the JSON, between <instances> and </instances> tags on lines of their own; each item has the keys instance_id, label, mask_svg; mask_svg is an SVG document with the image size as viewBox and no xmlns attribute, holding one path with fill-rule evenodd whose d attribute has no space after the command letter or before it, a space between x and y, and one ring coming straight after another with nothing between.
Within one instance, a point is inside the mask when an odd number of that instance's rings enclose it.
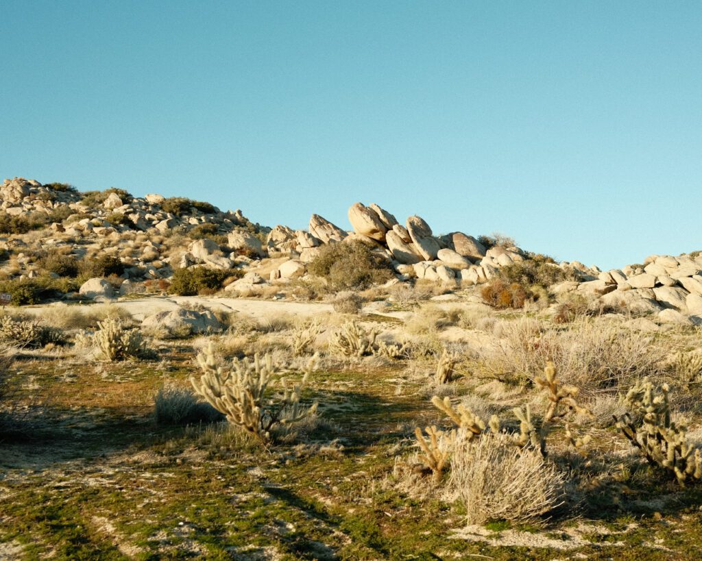
<instances>
[{"instance_id":1,"label":"dry straw-coloured twiggy bush in the right foreground","mask_svg":"<svg viewBox=\"0 0 702 561\"><path fill-rule=\"evenodd\" d=\"M564 476L538 450L499 435L463 440L452 454L449 493L463 503L468 524L539 525L562 503L563 486Z\"/></svg>"}]
</instances>

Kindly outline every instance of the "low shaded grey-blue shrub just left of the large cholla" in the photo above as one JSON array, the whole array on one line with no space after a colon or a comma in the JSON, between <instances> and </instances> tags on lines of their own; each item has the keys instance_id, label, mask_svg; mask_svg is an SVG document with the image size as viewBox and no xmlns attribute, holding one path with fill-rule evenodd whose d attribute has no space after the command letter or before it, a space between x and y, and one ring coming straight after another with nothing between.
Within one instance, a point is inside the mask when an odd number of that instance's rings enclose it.
<instances>
[{"instance_id":1,"label":"low shaded grey-blue shrub just left of the large cholla","mask_svg":"<svg viewBox=\"0 0 702 561\"><path fill-rule=\"evenodd\" d=\"M154 395L154 415L162 425L211 423L223 419L208 403L197 399L190 388L166 382Z\"/></svg>"}]
</instances>

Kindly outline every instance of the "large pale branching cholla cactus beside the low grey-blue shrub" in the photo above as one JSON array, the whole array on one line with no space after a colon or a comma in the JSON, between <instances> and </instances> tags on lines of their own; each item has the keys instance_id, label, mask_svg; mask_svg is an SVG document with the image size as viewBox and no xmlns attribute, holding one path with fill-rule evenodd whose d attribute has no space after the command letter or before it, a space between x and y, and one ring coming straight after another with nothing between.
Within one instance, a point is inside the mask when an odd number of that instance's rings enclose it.
<instances>
[{"instance_id":1,"label":"large pale branching cholla cactus beside the low grey-blue shrub","mask_svg":"<svg viewBox=\"0 0 702 561\"><path fill-rule=\"evenodd\" d=\"M197 356L204 373L199 377L191 376L190 383L199 396L225 414L227 421L267 441L272 428L296 423L317 411L317 403L312 407L300 405L302 388L316 360L315 355L299 384L289 385L284 377L277 376L278 369L270 355L263 361L256 355L253 363L246 358L234 360L225 367L217 360L210 344ZM277 381L279 393L267 397L271 381Z\"/></svg>"}]
</instances>

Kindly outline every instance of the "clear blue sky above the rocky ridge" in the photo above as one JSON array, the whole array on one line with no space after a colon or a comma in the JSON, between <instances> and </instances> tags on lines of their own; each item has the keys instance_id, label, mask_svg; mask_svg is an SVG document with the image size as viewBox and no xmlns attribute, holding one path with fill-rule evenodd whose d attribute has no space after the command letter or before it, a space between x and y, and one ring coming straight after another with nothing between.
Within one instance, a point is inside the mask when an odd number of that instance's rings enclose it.
<instances>
[{"instance_id":1,"label":"clear blue sky above the rocky ridge","mask_svg":"<svg viewBox=\"0 0 702 561\"><path fill-rule=\"evenodd\" d=\"M700 1L0 0L0 177L702 249Z\"/></svg>"}]
</instances>

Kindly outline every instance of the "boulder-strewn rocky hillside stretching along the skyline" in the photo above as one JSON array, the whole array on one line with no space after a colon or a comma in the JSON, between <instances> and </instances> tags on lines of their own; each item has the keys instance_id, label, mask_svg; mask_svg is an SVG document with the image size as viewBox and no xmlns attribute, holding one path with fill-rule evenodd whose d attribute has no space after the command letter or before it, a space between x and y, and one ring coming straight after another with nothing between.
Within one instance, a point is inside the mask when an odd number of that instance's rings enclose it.
<instances>
[{"instance_id":1,"label":"boulder-strewn rocky hillside stretching along the skyline","mask_svg":"<svg viewBox=\"0 0 702 561\"><path fill-rule=\"evenodd\" d=\"M204 266L221 273L217 282L223 281L219 288L227 292L270 295L275 287L307 278L307 266L324 246L356 241L387 257L396 273L393 283L423 280L454 289L500 278L512 282L515 271L519 277L538 260L541 270L551 270L546 278L553 282L540 282L557 302L578 297L590 308L702 322L699 252L652 255L643 264L601 271L579 262L555 263L485 236L435 235L421 217L411 216L403 225L376 204L355 203L348 217L351 231L316 214L307 231L283 225L270 229L239 210L222 212L183 197L138 198L120 189L79 193L66 184L19 177L0 187L0 248L6 257L1 272L6 283L75 278L84 296L109 297L114 288L123 295L143 292L157 281L165 290L176 271ZM113 266L104 271L88 266L108 258ZM91 271L112 278L88 278ZM268 286L272 292L265 290ZM60 288L65 298L79 297L78 285Z\"/></svg>"}]
</instances>

